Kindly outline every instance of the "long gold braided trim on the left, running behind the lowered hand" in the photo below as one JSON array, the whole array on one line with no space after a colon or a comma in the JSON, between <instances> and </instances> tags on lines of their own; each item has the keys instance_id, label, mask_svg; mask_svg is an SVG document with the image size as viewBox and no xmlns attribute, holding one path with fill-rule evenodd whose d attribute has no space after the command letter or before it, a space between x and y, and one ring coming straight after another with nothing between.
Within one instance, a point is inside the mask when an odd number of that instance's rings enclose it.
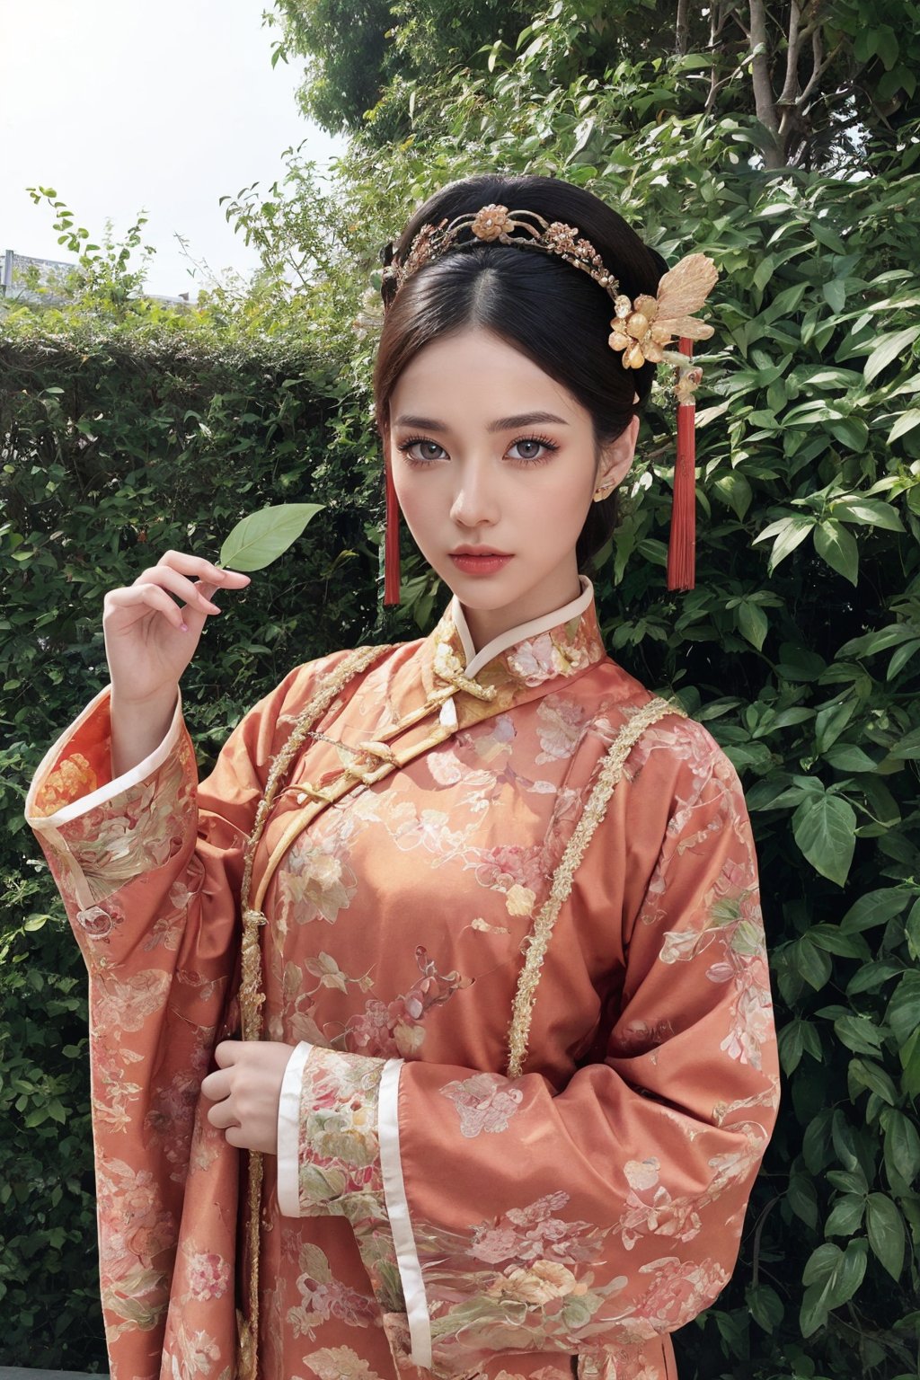
<instances>
[{"instance_id":1,"label":"long gold braided trim on the left, running behind the lowered hand","mask_svg":"<svg viewBox=\"0 0 920 1380\"><path fill-rule=\"evenodd\" d=\"M338 671L335 671L323 689L303 707L297 718L294 730L287 742L272 762L265 795L259 800L252 832L246 845L243 864L243 885L240 894L240 908L243 912L243 941L240 959L240 1024L243 1039L262 1038L262 948L259 944L259 930L265 925L262 911L250 905L250 891L252 887L252 864L255 850L265 831L265 825L274 806L279 789L287 778L294 763L298 748L302 745L313 723L323 715L337 696L345 689L348 682L366 671L372 661L382 657L390 649L357 647ZM237 1374L239 1380L257 1380L258 1350L259 1350L259 1214L262 1209L262 1155L251 1151L248 1155L248 1196L247 1196L247 1224L246 1243L250 1256L248 1279L248 1317L237 1308Z\"/></svg>"}]
</instances>

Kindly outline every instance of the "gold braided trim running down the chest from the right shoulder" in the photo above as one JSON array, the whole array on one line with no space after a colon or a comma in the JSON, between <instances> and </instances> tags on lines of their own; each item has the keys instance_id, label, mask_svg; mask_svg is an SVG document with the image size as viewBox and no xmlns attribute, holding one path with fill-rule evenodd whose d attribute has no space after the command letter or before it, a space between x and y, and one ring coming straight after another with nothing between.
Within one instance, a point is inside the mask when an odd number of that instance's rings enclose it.
<instances>
[{"instance_id":1,"label":"gold braided trim running down the chest from the right shoulder","mask_svg":"<svg viewBox=\"0 0 920 1380\"><path fill-rule=\"evenodd\" d=\"M617 782L622 776L623 763L626 762L632 748L636 745L646 729L651 727L652 723L657 723L658 719L663 719L668 713L679 713L681 718L687 718L686 712L677 704L661 698L650 700L644 708L641 708L628 723L623 724L617 734L617 738L607 749L604 765L590 792L588 805L582 810L582 816L572 829L559 867L553 874L549 896L541 907L539 915L534 920L534 927L524 940L524 944L527 945L527 956L524 959L520 977L517 978L517 991L514 992L514 1003L512 1006L512 1021L508 1029L509 1078L520 1078L527 1060L530 1025L534 1014L534 1002L537 1000L537 985L539 983L541 969L543 966L549 940L553 933L553 926L572 889L575 869L585 856L585 850L594 835L594 829L604 818L607 805L614 793Z\"/></svg>"}]
</instances>

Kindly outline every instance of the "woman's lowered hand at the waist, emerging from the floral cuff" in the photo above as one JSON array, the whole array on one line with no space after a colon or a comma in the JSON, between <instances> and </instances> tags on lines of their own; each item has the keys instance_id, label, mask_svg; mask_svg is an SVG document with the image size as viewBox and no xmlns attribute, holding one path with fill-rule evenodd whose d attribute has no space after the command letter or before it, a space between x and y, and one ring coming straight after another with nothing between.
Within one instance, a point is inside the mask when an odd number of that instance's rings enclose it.
<instances>
[{"instance_id":1,"label":"woman's lowered hand at the waist, emerging from the floral cuff","mask_svg":"<svg viewBox=\"0 0 920 1380\"><path fill-rule=\"evenodd\" d=\"M201 1083L214 1103L208 1121L237 1150L277 1154L277 1110L284 1070L292 1045L277 1041L221 1041L214 1050L218 1068Z\"/></svg>"}]
</instances>

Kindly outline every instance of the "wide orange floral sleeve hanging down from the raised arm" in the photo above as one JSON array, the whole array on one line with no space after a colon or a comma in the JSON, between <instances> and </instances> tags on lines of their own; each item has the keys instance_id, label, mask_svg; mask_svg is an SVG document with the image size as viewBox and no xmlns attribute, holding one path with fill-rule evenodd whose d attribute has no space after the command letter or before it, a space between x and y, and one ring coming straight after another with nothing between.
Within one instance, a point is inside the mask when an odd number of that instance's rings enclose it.
<instances>
[{"instance_id":1,"label":"wide orange floral sleeve hanging down from the raised arm","mask_svg":"<svg viewBox=\"0 0 920 1380\"><path fill-rule=\"evenodd\" d=\"M26 818L90 974L102 1304L126 1374L159 1373L177 1268L201 1305L232 1304L233 1221L215 1219L197 1254L177 1261L190 1167L210 1166L211 1203L236 1191L237 1152L196 1107L214 1045L234 1025L246 839L286 715L323 665L292 672L250 711L200 785L179 705L160 747L113 780L105 690L29 789Z\"/></svg>"}]
</instances>

